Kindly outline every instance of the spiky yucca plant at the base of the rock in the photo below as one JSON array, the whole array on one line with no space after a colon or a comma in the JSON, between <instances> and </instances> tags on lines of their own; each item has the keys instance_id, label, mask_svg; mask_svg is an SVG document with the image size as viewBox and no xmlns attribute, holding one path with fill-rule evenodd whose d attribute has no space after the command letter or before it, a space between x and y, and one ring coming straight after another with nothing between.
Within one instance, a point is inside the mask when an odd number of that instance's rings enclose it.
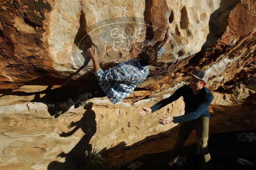
<instances>
[{"instance_id":1,"label":"spiky yucca plant at the base of the rock","mask_svg":"<svg viewBox=\"0 0 256 170\"><path fill-rule=\"evenodd\" d=\"M102 149L97 145L93 146L92 150L85 151L81 166L84 170L104 170L106 169L106 160L101 156Z\"/></svg>"}]
</instances>

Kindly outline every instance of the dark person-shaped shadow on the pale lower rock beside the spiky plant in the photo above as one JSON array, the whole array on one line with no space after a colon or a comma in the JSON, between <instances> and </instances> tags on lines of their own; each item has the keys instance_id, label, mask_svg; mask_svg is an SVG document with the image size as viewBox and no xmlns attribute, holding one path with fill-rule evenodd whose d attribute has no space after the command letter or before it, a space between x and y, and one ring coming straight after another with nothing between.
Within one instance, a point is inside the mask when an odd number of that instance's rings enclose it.
<instances>
[{"instance_id":1,"label":"dark person-shaped shadow on the pale lower rock beside the spiky plant","mask_svg":"<svg viewBox=\"0 0 256 170\"><path fill-rule=\"evenodd\" d=\"M88 107L88 105L86 107ZM68 152L68 153L61 152L60 154L58 154L57 158L65 157L65 162L52 161L48 165L48 170L84 169L83 167L81 167L83 155L84 155L85 151L91 151L92 146L89 144L89 142L97 130L97 124L96 124L95 118L96 118L95 112L93 110L88 109L83 114L83 117L79 121L71 122L69 124L68 128L72 128L74 126L75 126L75 128L72 131L69 131L67 133L65 133L65 132L61 133L60 134L61 137L71 136L80 128L85 133L85 135L74 146L74 148L71 149L70 152Z\"/></svg>"}]
</instances>

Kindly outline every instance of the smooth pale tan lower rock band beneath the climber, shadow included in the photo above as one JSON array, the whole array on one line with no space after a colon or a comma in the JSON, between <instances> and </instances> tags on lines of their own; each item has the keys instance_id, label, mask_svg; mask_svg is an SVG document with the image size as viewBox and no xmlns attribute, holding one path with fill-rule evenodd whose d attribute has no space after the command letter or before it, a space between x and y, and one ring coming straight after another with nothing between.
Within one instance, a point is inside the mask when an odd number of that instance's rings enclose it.
<instances>
[{"instance_id":1,"label":"smooth pale tan lower rock band beneath the climber, shadow included","mask_svg":"<svg viewBox=\"0 0 256 170\"><path fill-rule=\"evenodd\" d=\"M58 118L51 117L43 103L2 106L1 167L72 169L68 166L68 159L85 152L90 145L121 149L141 140L160 137L157 135L160 132L168 135L166 131L175 125L161 126L157 124L159 118L171 112L178 116L184 111L181 108L184 104L178 104L180 100L148 117L140 117L135 110L141 105L155 103L156 98L132 105L120 103L115 107L102 100L92 102L91 110L72 108ZM105 103L106 107L95 103ZM16 167L14 162L19 166Z\"/></svg>"}]
</instances>

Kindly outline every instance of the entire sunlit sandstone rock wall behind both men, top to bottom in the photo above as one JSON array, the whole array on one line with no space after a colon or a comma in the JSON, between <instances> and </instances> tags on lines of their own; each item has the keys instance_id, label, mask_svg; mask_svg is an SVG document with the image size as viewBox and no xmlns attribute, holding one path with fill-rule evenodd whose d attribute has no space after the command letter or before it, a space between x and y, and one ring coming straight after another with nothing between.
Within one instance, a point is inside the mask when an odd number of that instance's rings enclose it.
<instances>
[{"instance_id":1,"label":"entire sunlit sandstone rock wall behind both men, top to bottom","mask_svg":"<svg viewBox=\"0 0 256 170\"><path fill-rule=\"evenodd\" d=\"M67 160L95 143L115 150L168 135L175 125L158 120L183 114L182 99L146 117L136 110L170 96L196 69L209 74L214 104L250 95L242 85L229 95L217 92L256 74L255 6L255 0L1 1L1 168L72 169ZM133 47L159 46L168 25L166 51L124 101L97 98L59 117L47 112L44 103L95 81L89 47L107 69L136 56Z\"/></svg>"}]
</instances>

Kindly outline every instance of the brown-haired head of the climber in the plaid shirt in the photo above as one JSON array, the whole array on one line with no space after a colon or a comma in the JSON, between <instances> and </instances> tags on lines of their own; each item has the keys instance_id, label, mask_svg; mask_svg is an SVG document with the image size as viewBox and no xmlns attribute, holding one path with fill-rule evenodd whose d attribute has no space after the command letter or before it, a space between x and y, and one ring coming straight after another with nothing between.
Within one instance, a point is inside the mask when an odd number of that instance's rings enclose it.
<instances>
[{"instance_id":1,"label":"brown-haired head of the climber in the plaid shirt","mask_svg":"<svg viewBox=\"0 0 256 170\"><path fill-rule=\"evenodd\" d=\"M155 64L157 61L157 51L152 46L144 46L137 59L139 59L142 66Z\"/></svg>"}]
</instances>

